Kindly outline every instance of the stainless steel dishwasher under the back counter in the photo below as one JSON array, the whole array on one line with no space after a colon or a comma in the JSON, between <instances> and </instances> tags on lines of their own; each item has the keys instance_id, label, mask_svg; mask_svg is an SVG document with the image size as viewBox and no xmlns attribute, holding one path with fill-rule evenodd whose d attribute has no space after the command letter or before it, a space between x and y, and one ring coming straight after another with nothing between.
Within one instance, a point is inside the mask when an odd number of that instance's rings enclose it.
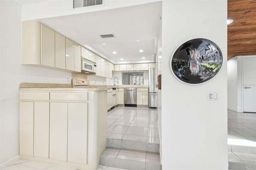
<instances>
[{"instance_id":1,"label":"stainless steel dishwasher under the back counter","mask_svg":"<svg viewBox=\"0 0 256 170\"><path fill-rule=\"evenodd\" d=\"M137 89L124 88L124 105L137 106Z\"/></svg>"}]
</instances>

